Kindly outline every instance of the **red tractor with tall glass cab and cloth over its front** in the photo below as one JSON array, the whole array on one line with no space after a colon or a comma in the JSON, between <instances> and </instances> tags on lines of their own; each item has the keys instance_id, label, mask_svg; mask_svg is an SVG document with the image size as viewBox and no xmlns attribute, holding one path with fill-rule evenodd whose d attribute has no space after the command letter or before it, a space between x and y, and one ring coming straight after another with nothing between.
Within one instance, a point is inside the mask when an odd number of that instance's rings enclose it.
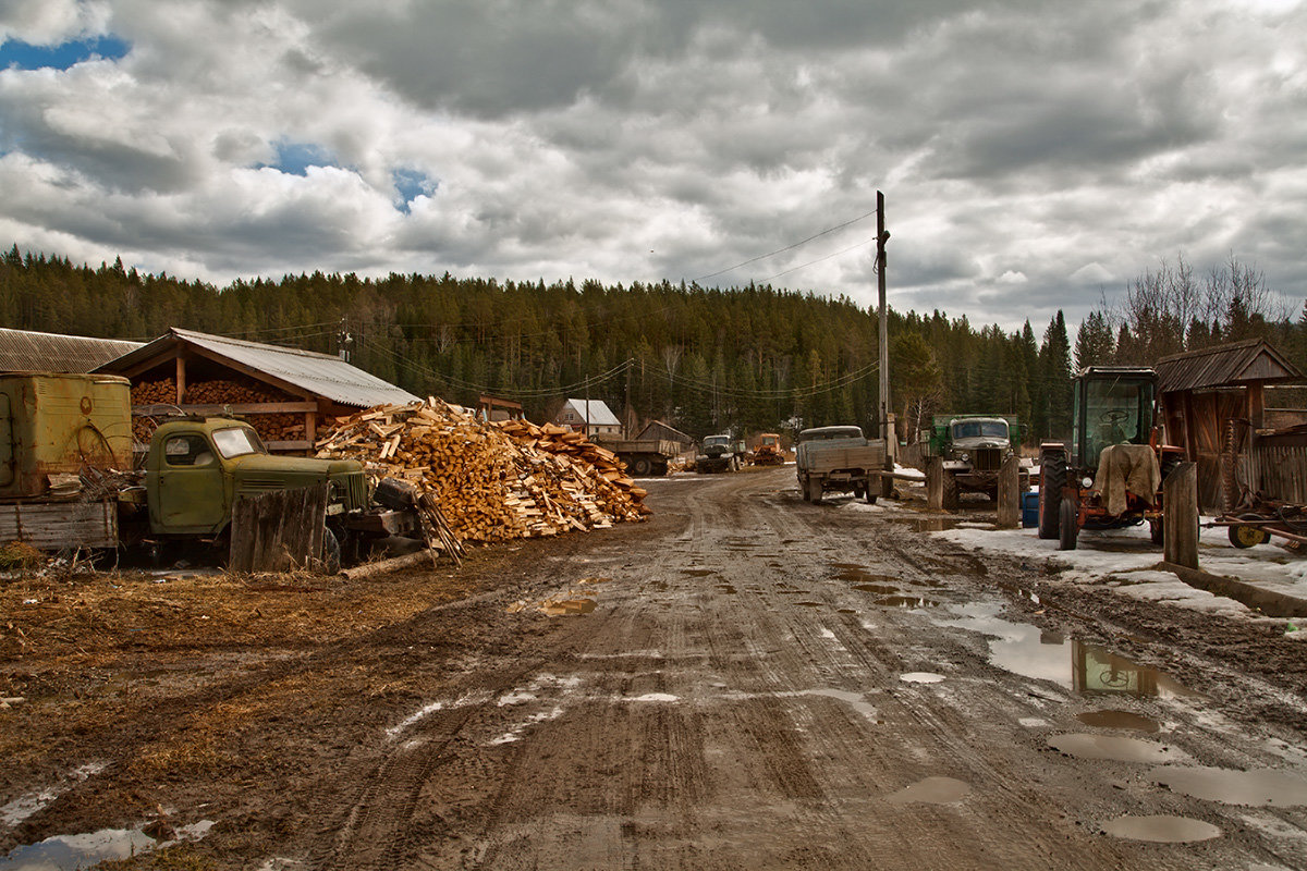
<instances>
[{"instance_id":1,"label":"red tractor with tall glass cab and cloth over its front","mask_svg":"<svg viewBox=\"0 0 1307 871\"><path fill-rule=\"evenodd\" d=\"M1157 372L1082 370L1074 383L1070 448L1046 443L1039 449L1039 537L1076 550L1081 529L1148 521L1153 542L1162 545L1162 482L1183 458L1183 448L1162 444Z\"/></svg>"}]
</instances>

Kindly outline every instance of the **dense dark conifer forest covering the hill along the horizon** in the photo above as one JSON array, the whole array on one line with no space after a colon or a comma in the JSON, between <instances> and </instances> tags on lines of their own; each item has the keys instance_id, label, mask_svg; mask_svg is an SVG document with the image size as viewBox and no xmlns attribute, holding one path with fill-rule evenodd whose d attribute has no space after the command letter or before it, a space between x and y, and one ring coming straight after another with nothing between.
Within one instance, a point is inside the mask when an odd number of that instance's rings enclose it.
<instances>
[{"instance_id":1,"label":"dense dark conifer forest covering the hill along the horizon","mask_svg":"<svg viewBox=\"0 0 1307 871\"><path fill-rule=\"evenodd\" d=\"M1029 323L1006 333L938 311L891 311L901 435L936 411L1018 414L1031 439L1065 434L1073 363L1140 362L1155 351L1155 342L1140 341L1153 336L1140 294L1138 311L1097 311L1074 346L1061 312L1038 333ZM1204 315L1206 332L1187 325L1180 346L1191 334L1216 341L1243 329L1265 330L1295 351L1302 343L1302 320L1236 315L1212 324ZM0 259L0 325L139 341L182 326L344 350L356 366L422 396L464 405L482 393L515 398L533 419L566 397L588 397L629 423L657 418L695 436L850 422L870 428L878 407L876 312L847 298L757 285L314 273L218 289L140 274L120 260L91 268L14 245Z\"/></svg>"}]
</instances>

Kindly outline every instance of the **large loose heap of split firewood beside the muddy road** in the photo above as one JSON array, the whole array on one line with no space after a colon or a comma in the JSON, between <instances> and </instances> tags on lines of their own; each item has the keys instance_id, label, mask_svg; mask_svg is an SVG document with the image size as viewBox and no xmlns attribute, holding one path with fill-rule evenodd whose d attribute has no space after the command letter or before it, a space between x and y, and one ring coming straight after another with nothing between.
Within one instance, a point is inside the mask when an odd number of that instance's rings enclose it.
<instances>
[{"instance_id":1,"label":"large loose heap of split firewood beside the muddy road","mask_svg":"<svg viewBox=\"0 0 1307 871\"><path fill-rule=\"evenodd\" d=\"M650 513L617 456L579 432L486 423L435 398L339 418L316 447L363 461L376 479L412 482L461 541L606 529Z\"/></svg>"}]
</instances>

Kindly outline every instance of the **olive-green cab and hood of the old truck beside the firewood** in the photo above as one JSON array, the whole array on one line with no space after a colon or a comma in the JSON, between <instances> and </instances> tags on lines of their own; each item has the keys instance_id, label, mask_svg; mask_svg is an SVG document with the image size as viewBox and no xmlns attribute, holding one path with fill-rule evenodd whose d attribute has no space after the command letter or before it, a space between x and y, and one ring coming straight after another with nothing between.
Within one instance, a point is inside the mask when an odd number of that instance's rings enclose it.
<instances>
[{"instance_id":1,"label":"olive-green cab and hood of the old truck beside the firewood","mask_svg":"<svg viewBox=\"0 0 1307 871\"><path fill-rule=\"evenodd\" d=\"M145 461L154 535L218 535L240 496L328 482L328 515L367 507L356 460L274 457L254 427L231 418L186 418L156 430Z\"/></svg>"}]
</instances>

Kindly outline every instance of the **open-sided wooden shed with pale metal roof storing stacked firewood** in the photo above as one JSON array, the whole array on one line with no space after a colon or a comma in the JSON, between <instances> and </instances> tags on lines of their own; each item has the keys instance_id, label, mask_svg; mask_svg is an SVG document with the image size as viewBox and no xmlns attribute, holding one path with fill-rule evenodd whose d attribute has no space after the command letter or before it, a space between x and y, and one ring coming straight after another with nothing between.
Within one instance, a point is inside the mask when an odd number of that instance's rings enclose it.
<instances>
[{"instance_id":1,"label":"open-sided wooden shed with pale metal roof storing stacked firewood","mask_svg":"<svg viewBox=\"0 0 1307 871\"><path fill-rule=\"evenodd\" d=\"M95 371L131 379L139 441L169 414L235 414L269 451L303 452L332 418L418 401L331 354L178 328Z\"/></svg>"}]
</instances>

